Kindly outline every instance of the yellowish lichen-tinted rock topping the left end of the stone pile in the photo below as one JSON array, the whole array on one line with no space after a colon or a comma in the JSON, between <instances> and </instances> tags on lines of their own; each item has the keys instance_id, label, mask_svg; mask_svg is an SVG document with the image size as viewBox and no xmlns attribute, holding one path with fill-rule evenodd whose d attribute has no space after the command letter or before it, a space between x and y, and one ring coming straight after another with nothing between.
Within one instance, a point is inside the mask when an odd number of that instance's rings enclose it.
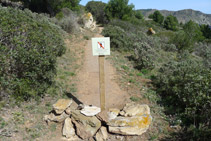
<instances>
[{"instance_id":1,"label":"yellowish lichen-tinted rock topping the left end of the stone pile","mask_svg":"<svg viewBox=\"0 0 211 141\"><path fill-rule=\"evenodd\" d=\"M72 99L59 99L53 104L53 109L57 114L62 114L72 104Z\"/></svg>"}]
</instances>

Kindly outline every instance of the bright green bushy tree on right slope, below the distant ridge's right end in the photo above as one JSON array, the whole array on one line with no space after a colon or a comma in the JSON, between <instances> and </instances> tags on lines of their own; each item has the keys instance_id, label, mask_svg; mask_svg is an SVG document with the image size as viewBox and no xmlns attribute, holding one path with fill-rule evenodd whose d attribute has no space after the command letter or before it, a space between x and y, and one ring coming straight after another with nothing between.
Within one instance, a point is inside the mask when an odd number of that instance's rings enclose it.
<instances>
[{"instance_id":1,"label":"bright green bushy tree on right slope, below the distant ridge's right end","mask_svg":"<svg viewBox=\"0 0 211 141\"><path fill-rule=\"evenodd\" d=\"M184 25L183 29L188 35L189 40L192 40L192 42L203 40L203 35L200 26L197 23L193 22L192 20L187 22Z\"/></svg>"}]
</instances>

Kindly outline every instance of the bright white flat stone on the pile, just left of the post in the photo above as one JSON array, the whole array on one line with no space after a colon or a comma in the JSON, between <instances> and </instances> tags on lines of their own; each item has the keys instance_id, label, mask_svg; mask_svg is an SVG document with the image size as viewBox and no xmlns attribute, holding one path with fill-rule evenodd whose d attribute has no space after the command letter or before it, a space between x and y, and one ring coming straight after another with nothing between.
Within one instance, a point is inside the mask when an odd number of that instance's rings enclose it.
<instances>
[{"instance_id":1,"label":"bright white flat stone on the pile, just left of the post","mask_svg":"<svg viewBox=\"0 0 211 141\"><path fill-rule=\"evenodd\" d=\"M95 106L84 106L81 113L85 116L95 116L100 113L101 109Z\"/></svg>"}]
</instances>

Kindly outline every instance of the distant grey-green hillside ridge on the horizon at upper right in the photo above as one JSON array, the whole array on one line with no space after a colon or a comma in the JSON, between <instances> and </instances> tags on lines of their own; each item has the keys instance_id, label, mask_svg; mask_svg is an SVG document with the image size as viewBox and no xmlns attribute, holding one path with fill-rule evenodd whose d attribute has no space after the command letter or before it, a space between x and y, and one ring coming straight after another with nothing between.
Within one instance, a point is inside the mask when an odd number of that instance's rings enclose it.
<instances>
[{"instance_id":1,"label":"distant grey-green hillside ridge on the horizon at upper right","mask_svg":"<svg viewBox=\"0 0 211 141\"><path fill-rule=\"evenodd\" d=\"M156 9L140 9L145 18L156 11ZM168 15L173 15L177 17L179 22L186 23L189 20L193 20L199 24L211 25L211 14L204 14L200 11L195 11L192 9L184 9L179 11L168 11L160 10L161 14L165 17Z\"/></svg>"}]
</instances>

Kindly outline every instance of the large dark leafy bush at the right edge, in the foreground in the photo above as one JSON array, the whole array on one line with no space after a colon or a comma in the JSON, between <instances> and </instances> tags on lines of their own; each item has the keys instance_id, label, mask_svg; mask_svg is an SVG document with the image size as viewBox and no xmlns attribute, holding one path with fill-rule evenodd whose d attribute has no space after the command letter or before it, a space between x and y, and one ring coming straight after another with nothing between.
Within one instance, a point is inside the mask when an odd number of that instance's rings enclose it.
<instances>
[{"instance_id":1,"label":"large dark leafy bush at the right edge, in the foreground","mask_svg":"<svg viewBox=\"0 0 211 141\"><path fill-rule=\"evenodd\" d=\"M161 67L153 81L167 113L178 116L189 130L194 127L191 138L197 139L210 128L211 71L187 53L177 60ZM195 129L203 132L198 135Z\"/></svg>"}]
</instances>

